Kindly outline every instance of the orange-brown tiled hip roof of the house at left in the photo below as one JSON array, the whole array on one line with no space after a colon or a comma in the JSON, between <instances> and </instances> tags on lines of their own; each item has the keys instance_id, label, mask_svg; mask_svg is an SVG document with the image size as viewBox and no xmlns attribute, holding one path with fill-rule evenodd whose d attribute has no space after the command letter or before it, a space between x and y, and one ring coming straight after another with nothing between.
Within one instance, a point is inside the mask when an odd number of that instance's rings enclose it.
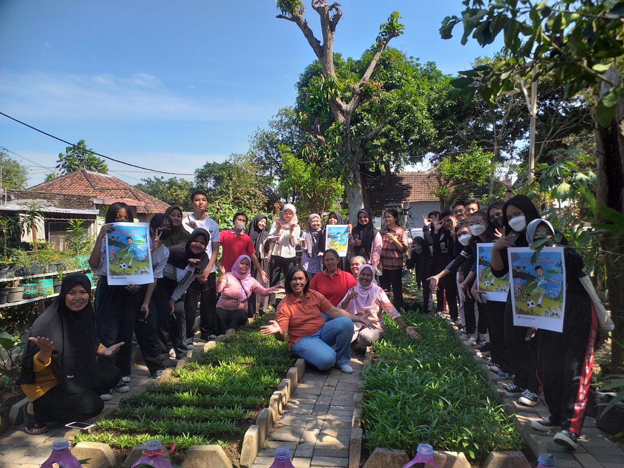
<instances>
[{"instance_id":1,"label":"orange-brown tiled hip roof of the house at left","mask_svg":"<svg viewBox=\"0 0 624 468\"><path fill-rule=\"evenodd\" d=\"M167 203L161 202L158 198L132 187L132 185L119 180L117 177L85 169L40 183L31 187L31 190L143 202L137 206L137 213L163 213L169 207Z\"/></svg>"}]
</instances>

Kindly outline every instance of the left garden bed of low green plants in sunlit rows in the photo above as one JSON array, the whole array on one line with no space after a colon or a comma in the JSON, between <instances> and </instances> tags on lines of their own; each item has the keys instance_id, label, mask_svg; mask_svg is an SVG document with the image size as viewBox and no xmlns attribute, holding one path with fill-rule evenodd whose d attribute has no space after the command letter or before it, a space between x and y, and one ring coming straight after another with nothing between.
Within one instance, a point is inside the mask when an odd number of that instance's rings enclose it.
<instances>
[{"instance_id":1,"label":"left garden bed of low green plants in sunlit rows","mask_svg":"<svg viewBox=\"0 0 624 468\"><path fill-rule=\"evenodd\" d=\"M93 434L77 434L73 442L129 449L157 438L176 442L180 450L240 442L295 363L286 342L260 333L265 323L257 319L197 361L174 369L167 382L134 394L114 418L96 422Z\"/></svg>"}]
</instances>

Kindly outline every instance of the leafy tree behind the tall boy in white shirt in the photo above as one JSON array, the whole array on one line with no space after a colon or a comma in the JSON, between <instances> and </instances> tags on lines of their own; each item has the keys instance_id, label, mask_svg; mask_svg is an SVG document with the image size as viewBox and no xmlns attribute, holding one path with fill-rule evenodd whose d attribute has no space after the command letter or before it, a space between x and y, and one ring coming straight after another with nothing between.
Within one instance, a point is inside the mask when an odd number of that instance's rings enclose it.
<instances>
[{"instance_id":1,"label":"leafy tree behind the tall boy in white shirt","mask_svg":"<svg viewBox=\"0 0 624 468\"><path fill-rule=\"evenodd\" d=\"M195 169L195 185L207 193L208 205L229 204L250 217L270 210L276 200L270 177L262 175L251 155L233 154L226 162L205 163Z\"/></svg>"}]
</instances>

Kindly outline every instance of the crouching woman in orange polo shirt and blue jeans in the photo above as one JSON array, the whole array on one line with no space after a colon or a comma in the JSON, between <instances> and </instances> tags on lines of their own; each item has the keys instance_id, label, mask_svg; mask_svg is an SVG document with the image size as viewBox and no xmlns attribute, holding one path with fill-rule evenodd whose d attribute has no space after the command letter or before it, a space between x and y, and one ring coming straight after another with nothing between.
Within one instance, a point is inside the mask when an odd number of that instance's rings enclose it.
<instances>
[{"instance_id":1,"label":"crouching woman in orange polo shirt and blue jeans","mask_svg":"<svg viewBox=\"0 0 624 468\"><path fill-rule=\"evenodd\" d=\"M279 341L288 339L295 356L321 371L335 365L344 373L352 373L349 361L353 323L373 327L371 321L334 307L321 293L310 290L301 265L286 273L284 288L286 297L278 305L276 320L261 326L260 331L273 334ZM321 313L329 316L329 321L326 322Z\"/></svg>"}]
</instances>

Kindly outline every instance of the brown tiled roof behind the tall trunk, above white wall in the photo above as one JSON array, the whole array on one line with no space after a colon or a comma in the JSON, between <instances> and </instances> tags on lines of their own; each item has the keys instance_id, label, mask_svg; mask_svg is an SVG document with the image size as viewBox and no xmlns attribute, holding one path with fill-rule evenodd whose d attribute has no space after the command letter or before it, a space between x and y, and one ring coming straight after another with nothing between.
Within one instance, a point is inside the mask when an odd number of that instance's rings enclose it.
<instances>
[{"instance_id":1,"label":"brown tiled roof behind the tall trunk, above white wall","mask_svg":"<svg viewBox=\"0 0 624 468\"><path fill-rule=\"evenodd\" d=\"M436 169L425 172L399 172L388 180L385 176L368 181L371 205L383 207L387 203L439 202L436 192L440 186Z\"/></svg>"}]
</instances>

